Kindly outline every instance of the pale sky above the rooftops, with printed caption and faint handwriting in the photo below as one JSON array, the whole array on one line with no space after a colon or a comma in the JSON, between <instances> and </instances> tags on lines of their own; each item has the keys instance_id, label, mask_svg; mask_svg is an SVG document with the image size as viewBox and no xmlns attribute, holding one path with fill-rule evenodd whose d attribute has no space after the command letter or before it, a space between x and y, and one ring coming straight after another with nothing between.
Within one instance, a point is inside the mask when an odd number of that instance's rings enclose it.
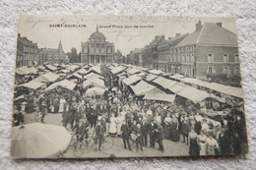
<instances>
[{"instance_id":1,"label":"pale sky above the rooftops, with printed caption and faint handwriting","mask_svg":"<svg viewBox=\"0 0 256 170\"><path fill-rule=\"evenodd\" d=\"M113 42L115 50L127 55L135 48L143 48L155 35L165 39L175 33L191 33L195 24L222 23L236 33L235 19L229 17L170 17L170 16L81 16L81 15L22 15L19 20L21 36L37 43L38 48L58 48L62 42L64 51L75 47L81 51L81 42L88 41L96 31L103 33L106 41ZM58 25L58 27L57 27Z\"/></svg>"}]
</instances>

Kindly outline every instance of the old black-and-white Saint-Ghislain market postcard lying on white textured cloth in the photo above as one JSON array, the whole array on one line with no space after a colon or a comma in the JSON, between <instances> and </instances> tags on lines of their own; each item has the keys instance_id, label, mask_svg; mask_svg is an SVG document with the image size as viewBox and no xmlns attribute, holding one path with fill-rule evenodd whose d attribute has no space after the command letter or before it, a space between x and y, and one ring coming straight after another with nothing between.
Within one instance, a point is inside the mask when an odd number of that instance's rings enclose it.
<instances>
[{"instance_id":1,"label":"old black-and-white Saint-Ghislain market postcard lying on white textured cloth","mask_svg":"<svg viewBox=\"0 0 256 170\"><path fill-rule=\"evenodd\" d=\"M22 15L11 156L248 152L235 19Z\"/></svg>"}]
</instances>

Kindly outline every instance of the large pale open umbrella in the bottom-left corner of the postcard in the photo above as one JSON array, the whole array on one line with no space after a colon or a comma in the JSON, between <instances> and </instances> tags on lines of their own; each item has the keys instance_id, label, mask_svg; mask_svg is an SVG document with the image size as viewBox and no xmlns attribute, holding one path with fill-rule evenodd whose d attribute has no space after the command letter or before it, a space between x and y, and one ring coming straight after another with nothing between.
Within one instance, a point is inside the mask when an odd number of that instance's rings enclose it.
<instances>
[{"instance_id":1,"label":"large pale open umbrella in the bottom-left corner of the postcard","mask_svg":"<svg viewBox=\"0 0 256 170\"><path fill-rule=\"evenodd\" d=\"M12 129L11 156L54 158L66 150L71 135L64 127L32 123Z\"/></svg>"}]
</instances>

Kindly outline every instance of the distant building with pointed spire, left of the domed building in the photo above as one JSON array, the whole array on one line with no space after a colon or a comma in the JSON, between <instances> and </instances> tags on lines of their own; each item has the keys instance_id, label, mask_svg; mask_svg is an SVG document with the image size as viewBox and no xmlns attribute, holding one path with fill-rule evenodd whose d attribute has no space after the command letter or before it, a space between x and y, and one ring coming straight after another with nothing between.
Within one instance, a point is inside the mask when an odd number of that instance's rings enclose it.
<instances>
[{"instance_id":1,"label":"distant building with pointed spire, left of the domed building","mask_svg":"<svg viewBox=\"0 0 256 170\"><path fill-rule=\"evenodd\" d=\"M61 40L58 48L42 48L38 53L38 65L68 63L68 56L65 54Z\"/></svg>"}]
</instances>

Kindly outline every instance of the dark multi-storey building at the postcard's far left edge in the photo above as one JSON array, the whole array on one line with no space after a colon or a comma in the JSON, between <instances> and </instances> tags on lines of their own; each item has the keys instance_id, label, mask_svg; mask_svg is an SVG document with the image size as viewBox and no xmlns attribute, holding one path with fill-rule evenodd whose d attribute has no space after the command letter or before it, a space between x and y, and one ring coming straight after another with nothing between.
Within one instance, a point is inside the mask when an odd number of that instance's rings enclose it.
<instances>
[{"instance_id":1,"label":"dark multi-storey building at the postcard's far left edge","mask_svg":"<svg viewBox=\"0 0 256 170\"><path fill-rule=\"evenodd\" d=\"M27 37L22 37L21 33L18 33L16 67L32 67L37 65L37 62L37 43L32 42Z\"/></svg>"}]
</instances>

